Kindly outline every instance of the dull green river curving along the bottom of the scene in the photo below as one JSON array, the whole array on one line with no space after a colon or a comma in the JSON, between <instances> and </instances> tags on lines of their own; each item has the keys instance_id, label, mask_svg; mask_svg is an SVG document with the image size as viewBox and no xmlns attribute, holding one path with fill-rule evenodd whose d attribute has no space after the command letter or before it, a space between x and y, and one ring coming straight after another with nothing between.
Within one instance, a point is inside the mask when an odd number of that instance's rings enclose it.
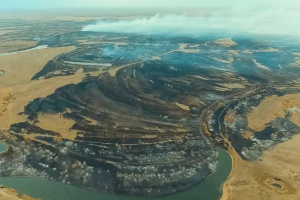
<instances>
[{"instance_id":1,"label":"dull green river curving along the bottom of the scene","mask_svg":"<svg viewBox=\"0 0 300 200\"><path fill-rule=\"evenodd\" d=\"M6 145L0 142L0 151L5 151ZM219 166L215 173L199 185L166 197L152 198L153 200L217 200L222 192L221 187L231 171L230 155L217 147ZM42 200L137 200L141 198L119 196L96 192L70 184L63 184L40 178L0 177L0 184Z\"/></svg>"}]
</instances>

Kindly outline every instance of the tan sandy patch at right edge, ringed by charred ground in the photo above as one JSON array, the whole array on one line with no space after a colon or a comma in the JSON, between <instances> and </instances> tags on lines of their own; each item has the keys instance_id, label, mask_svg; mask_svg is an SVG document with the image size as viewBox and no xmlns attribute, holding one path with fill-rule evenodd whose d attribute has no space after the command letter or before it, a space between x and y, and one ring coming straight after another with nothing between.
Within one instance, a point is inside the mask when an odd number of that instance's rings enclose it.
<instances>
[{"instance_id":1,"label":"tan sandy patch at right edge, ringed by charred ground","mask_svg":"<svg viewBox=\"0 0 300 200\"><path fill-rule=\"evenodd\" d=\"M285 110L292 107L300 108L300 93L268 96L248 114L248 126L261 131L265 128L265 124L276 117L283 118ZM293 120L296 119L293 117Z\"/></svg>"}]
</instances>

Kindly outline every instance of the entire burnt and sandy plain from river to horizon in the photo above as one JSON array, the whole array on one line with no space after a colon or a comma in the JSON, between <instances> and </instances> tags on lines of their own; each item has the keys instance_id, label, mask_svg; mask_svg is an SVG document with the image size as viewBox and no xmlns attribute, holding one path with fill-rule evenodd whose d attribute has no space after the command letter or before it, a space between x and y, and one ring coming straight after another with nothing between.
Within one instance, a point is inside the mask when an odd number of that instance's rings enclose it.
<instances>
[{"instance_id":1,"label":"entire burnt and sandy plain from river to horizon","mask_svg":"<svg viewBox=\"0 0 300 200\"><path fill-rule=\"evenodd\" d=\"M128 13L19 18L0 15L0 176L161 197L204 183L222 147L222 200L299 199L298 47L81 31Z\"/></svg>"}]
</instances>

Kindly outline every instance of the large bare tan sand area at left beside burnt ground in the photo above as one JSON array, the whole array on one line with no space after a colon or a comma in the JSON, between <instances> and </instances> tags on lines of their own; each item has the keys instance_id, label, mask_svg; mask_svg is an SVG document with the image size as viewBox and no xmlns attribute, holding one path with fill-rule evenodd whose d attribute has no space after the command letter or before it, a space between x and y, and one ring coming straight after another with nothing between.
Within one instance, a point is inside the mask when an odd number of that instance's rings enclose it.
<instances>
[{"instance_id":1,"label":"large bare tan sand area at left beside burnt ground","mask_svg":"<svg viewBox=\"0 0 300 200\"><path fill-rule=\"evenodd\" d=\"M17 114L23 111L30 100L46 97L58 87L81 81L84 76L82 73L30 81L48 60L71 49L74 47L47 48L0 56L0 62L3 63L1 67L8 71L0 76L0 129L7 129L12 123L25 121L25 115Z\"/></svg>"}]
</instances>

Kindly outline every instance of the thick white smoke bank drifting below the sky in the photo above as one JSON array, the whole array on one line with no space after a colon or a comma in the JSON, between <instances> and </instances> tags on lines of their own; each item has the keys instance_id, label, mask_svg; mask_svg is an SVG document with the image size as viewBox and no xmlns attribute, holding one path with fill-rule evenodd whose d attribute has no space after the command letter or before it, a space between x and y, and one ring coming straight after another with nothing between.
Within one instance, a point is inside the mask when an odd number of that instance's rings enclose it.
<instances>
[{"instance_id":1,"label":"thick white smoke bank drifting below the sky","mask_svg":"<svg viewBox=\"0 0 300 200\"><path fill-rule=\"evenodd\" d=\"M178 34L225 33L300 36L299 9L231 9L209 16L155 15L134 20L100 20L82 31Z\"/></svg>"}]
</instances>

